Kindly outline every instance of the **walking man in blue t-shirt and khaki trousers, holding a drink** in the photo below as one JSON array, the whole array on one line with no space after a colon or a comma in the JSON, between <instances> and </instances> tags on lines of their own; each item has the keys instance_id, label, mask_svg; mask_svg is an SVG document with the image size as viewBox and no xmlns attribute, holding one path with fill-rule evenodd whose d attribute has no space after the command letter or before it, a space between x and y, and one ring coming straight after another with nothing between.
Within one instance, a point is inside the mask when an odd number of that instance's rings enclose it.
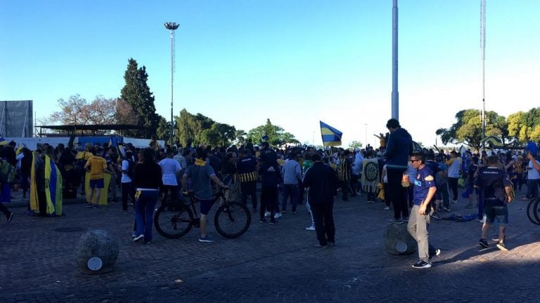
<instances>
[{"instance_id":1,"label":"walking man in blue t-shirt and khaki trousers, holding a drink","mask_svg":"<svg viewBox=\"0 0 540 303\"><path fill-rule=\"evenodd\" d=\"M430 203L435 197L435 177L429 166L425 165L424 154L414 152L411 155L413 168L417 170L414 180L413 208L407 229L418 243L419 260L414 268L431 267L431 258L440 255L441 250L435 249L428 240L428 225L430 224Z\"/></svg>"}]
</instances>

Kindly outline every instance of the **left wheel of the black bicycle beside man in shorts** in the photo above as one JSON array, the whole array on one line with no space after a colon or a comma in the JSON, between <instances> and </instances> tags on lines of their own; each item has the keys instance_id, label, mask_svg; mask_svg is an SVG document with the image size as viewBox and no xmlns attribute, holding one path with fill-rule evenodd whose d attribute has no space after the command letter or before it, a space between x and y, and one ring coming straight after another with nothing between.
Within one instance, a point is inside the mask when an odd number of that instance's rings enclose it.
<instances>
[{"instance_id":1,"label":"left wheel of the black bicycle beside man in shorts","mask_svg":"<svg viewBox=\"0 0 540 303\"><path fill-rule=\"evenodd\" d=\"M167 203L155 213L154 226L165 238L180 238L193 226L193 212L182 203Z\"/></svg>"}]
</instances>

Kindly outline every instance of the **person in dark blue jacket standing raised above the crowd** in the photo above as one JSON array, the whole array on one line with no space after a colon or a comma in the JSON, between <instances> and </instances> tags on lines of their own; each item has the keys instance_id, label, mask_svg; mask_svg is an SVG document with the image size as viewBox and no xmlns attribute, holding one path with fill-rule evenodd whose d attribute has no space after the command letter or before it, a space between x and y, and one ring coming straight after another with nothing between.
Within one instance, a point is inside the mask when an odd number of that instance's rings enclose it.
<instances>
[{"instance_id":1,"label":"person in dark blue jacket standing raised above the crowd","mask_svg":"<svg viewBox=\"0 0 540 303\"><path fill-rule=\"evenodd\" d=\"M402 224L409 220L407 189L401 186L401 178L408 167L409 156L413 153L413 139L409 132L401 128L397 119L386 123L390 137L386 147L386 169L388 175L388 195L394 206L394 220Z\"/></svg>"}]
</instances>

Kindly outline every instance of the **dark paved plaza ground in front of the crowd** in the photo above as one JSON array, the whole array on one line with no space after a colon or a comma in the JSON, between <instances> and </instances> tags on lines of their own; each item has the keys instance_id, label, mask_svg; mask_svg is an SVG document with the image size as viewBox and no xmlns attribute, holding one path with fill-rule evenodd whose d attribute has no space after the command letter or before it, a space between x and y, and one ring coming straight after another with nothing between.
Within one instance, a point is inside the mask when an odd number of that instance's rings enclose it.
<instances>
[{"instance_id":1,"label":"dark paved plaza ground in front of the crowd","mask_svg":"<svg viewBox=\"0 0 540 303\"><path fill-rule=\"evenodd\" d=\"M276 225L254 214L236 239L221 237L210 220L214 243L199 243L198 229L174 240L154 230L144 245L131 241L134 213L122 214L121 203L88 209L79 198L65 201L62 217L30 217L15 192L13 222L0 224L0 302L540 302L540 227L527 220L524 194L509 206L510 251L490 239L493 248L481 251L477 221L432 220L430 242L442 254L431 269L413 269L416 254L385 252L392 211L365 195L336 198L336 245L316 248L304 206ZM466 203L453 213L473 213ZM84 275L75 264L75 244L91 229L120 243L108 274Z\"/></svg>"}]
</instances>

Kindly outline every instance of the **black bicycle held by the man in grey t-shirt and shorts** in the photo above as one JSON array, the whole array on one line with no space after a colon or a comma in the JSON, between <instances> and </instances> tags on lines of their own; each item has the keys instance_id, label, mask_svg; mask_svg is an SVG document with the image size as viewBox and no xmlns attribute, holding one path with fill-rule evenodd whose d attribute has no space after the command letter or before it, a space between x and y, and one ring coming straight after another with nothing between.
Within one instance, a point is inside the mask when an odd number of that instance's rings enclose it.
<instances>
[{"instance_id":1,"label":"black bicycle held by the man in grey t-shirt and shorts","mask_svg":"<svg viewBox=\"0 0 540 303\"><path fill-rule=\"evenodd\" d=\"M224 189L219 189L212 198L212 206L221 199L214 215L214 226L221 236L237 238L250 227L250 210L242 203L227 201L223 191ZM195 198L193 192L190 192L188 197L189 203L184 200L169 202L160 206L155 213L155 229L165 238L180 238L186 235L191 227L200 227L200 217L195 209L195 203L200 199Z\"/></svg>"}]
</instances>

